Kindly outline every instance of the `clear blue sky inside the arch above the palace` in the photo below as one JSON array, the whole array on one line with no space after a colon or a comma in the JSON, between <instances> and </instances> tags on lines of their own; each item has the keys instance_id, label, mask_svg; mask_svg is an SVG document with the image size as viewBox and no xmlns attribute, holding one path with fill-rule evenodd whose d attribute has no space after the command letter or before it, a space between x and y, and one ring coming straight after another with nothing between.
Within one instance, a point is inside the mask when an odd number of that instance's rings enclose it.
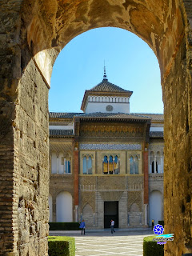
<instances>
[{"instance_id":1,"label":"clear blue sky inside the arch above the palace","mask_svg":"<svg viewBox=\"0 0 192 256\"><path fill-rule=\"evenodd\" d=\"M118 28L89 30L71 40L54 63L49 110L81 112L85 90L102 82L104 60L109 82L133 90L132 113L163 113L158 59L135 34Z\"/></svg>"}]
</instances>

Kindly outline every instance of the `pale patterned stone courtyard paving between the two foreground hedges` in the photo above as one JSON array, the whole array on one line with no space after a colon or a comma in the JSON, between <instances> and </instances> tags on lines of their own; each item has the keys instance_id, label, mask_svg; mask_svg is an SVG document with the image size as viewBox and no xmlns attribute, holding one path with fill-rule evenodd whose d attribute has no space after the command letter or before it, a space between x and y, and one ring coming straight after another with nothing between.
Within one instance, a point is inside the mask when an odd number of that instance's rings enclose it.
<instances>
[{"instance_id":1,"label":"pale patterned stone courtyard paving between the two foreground hedges","mask_svg":"<svg viewBox=\"0 0 192 256\"><path fill-rule=\"evenodd\" d=\"M151 230L125 231L86 230L86 235L81 231L50 231L50 235L65 235L75 238L75 256L142 256L142 241L147 235L153 234Z\"/></svg>"}]
</instances>

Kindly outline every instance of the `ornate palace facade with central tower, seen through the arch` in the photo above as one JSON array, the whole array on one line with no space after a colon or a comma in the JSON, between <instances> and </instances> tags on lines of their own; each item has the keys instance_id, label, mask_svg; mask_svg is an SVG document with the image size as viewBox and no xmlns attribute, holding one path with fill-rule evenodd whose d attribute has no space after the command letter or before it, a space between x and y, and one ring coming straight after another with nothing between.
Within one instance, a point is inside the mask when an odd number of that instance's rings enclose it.
<instances>
[{"instance_id":1,"label":"ornate palace facade with central tower, seen through the arch","mask_svg":"<svg viewBox=\"0 0 192 256\"><path fill-rule=\"evenodd\" d=\"M87 228L163 219L163 114L130 113L133 92L102 82L83 113L50 112L50 222Z\"/></svg>"}]
</instances>

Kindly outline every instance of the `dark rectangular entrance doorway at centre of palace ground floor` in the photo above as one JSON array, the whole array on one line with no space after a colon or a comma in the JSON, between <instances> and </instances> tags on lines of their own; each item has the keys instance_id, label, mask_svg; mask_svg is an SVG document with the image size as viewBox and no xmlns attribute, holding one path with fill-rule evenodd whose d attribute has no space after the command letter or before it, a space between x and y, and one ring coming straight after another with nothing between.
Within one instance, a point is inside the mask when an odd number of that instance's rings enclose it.
<instances>
[{"instance_id":1,"label":"dark rectangular entrance doorway at centre of palace ground floor","mask_svg":"<svg viewBox=\"0 0 192 256\"><path fill-rule=\"evenodd\" d=\"M104 228L110 228L110 220L114 220L114 227L118 227L118 201L104 202Z\"/></svg>"}]
</instances>

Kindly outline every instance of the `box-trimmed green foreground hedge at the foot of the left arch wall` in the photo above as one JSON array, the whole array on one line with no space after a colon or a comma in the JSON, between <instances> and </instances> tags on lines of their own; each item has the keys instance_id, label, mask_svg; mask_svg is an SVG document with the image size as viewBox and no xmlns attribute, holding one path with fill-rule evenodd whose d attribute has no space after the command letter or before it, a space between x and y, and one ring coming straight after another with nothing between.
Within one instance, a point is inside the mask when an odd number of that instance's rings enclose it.
<instances>
[{"instance_id":1,"label":"box-trimmed green foreground hedge at the foot of the left arch wall","mask_svg":"<svg viewBox=\"0 0 192 256\"><path fill-rule=\"evenodd\" d=\"M74 256L74 238L48 237L49 256Z\"/></svg>"}]
</instances>

